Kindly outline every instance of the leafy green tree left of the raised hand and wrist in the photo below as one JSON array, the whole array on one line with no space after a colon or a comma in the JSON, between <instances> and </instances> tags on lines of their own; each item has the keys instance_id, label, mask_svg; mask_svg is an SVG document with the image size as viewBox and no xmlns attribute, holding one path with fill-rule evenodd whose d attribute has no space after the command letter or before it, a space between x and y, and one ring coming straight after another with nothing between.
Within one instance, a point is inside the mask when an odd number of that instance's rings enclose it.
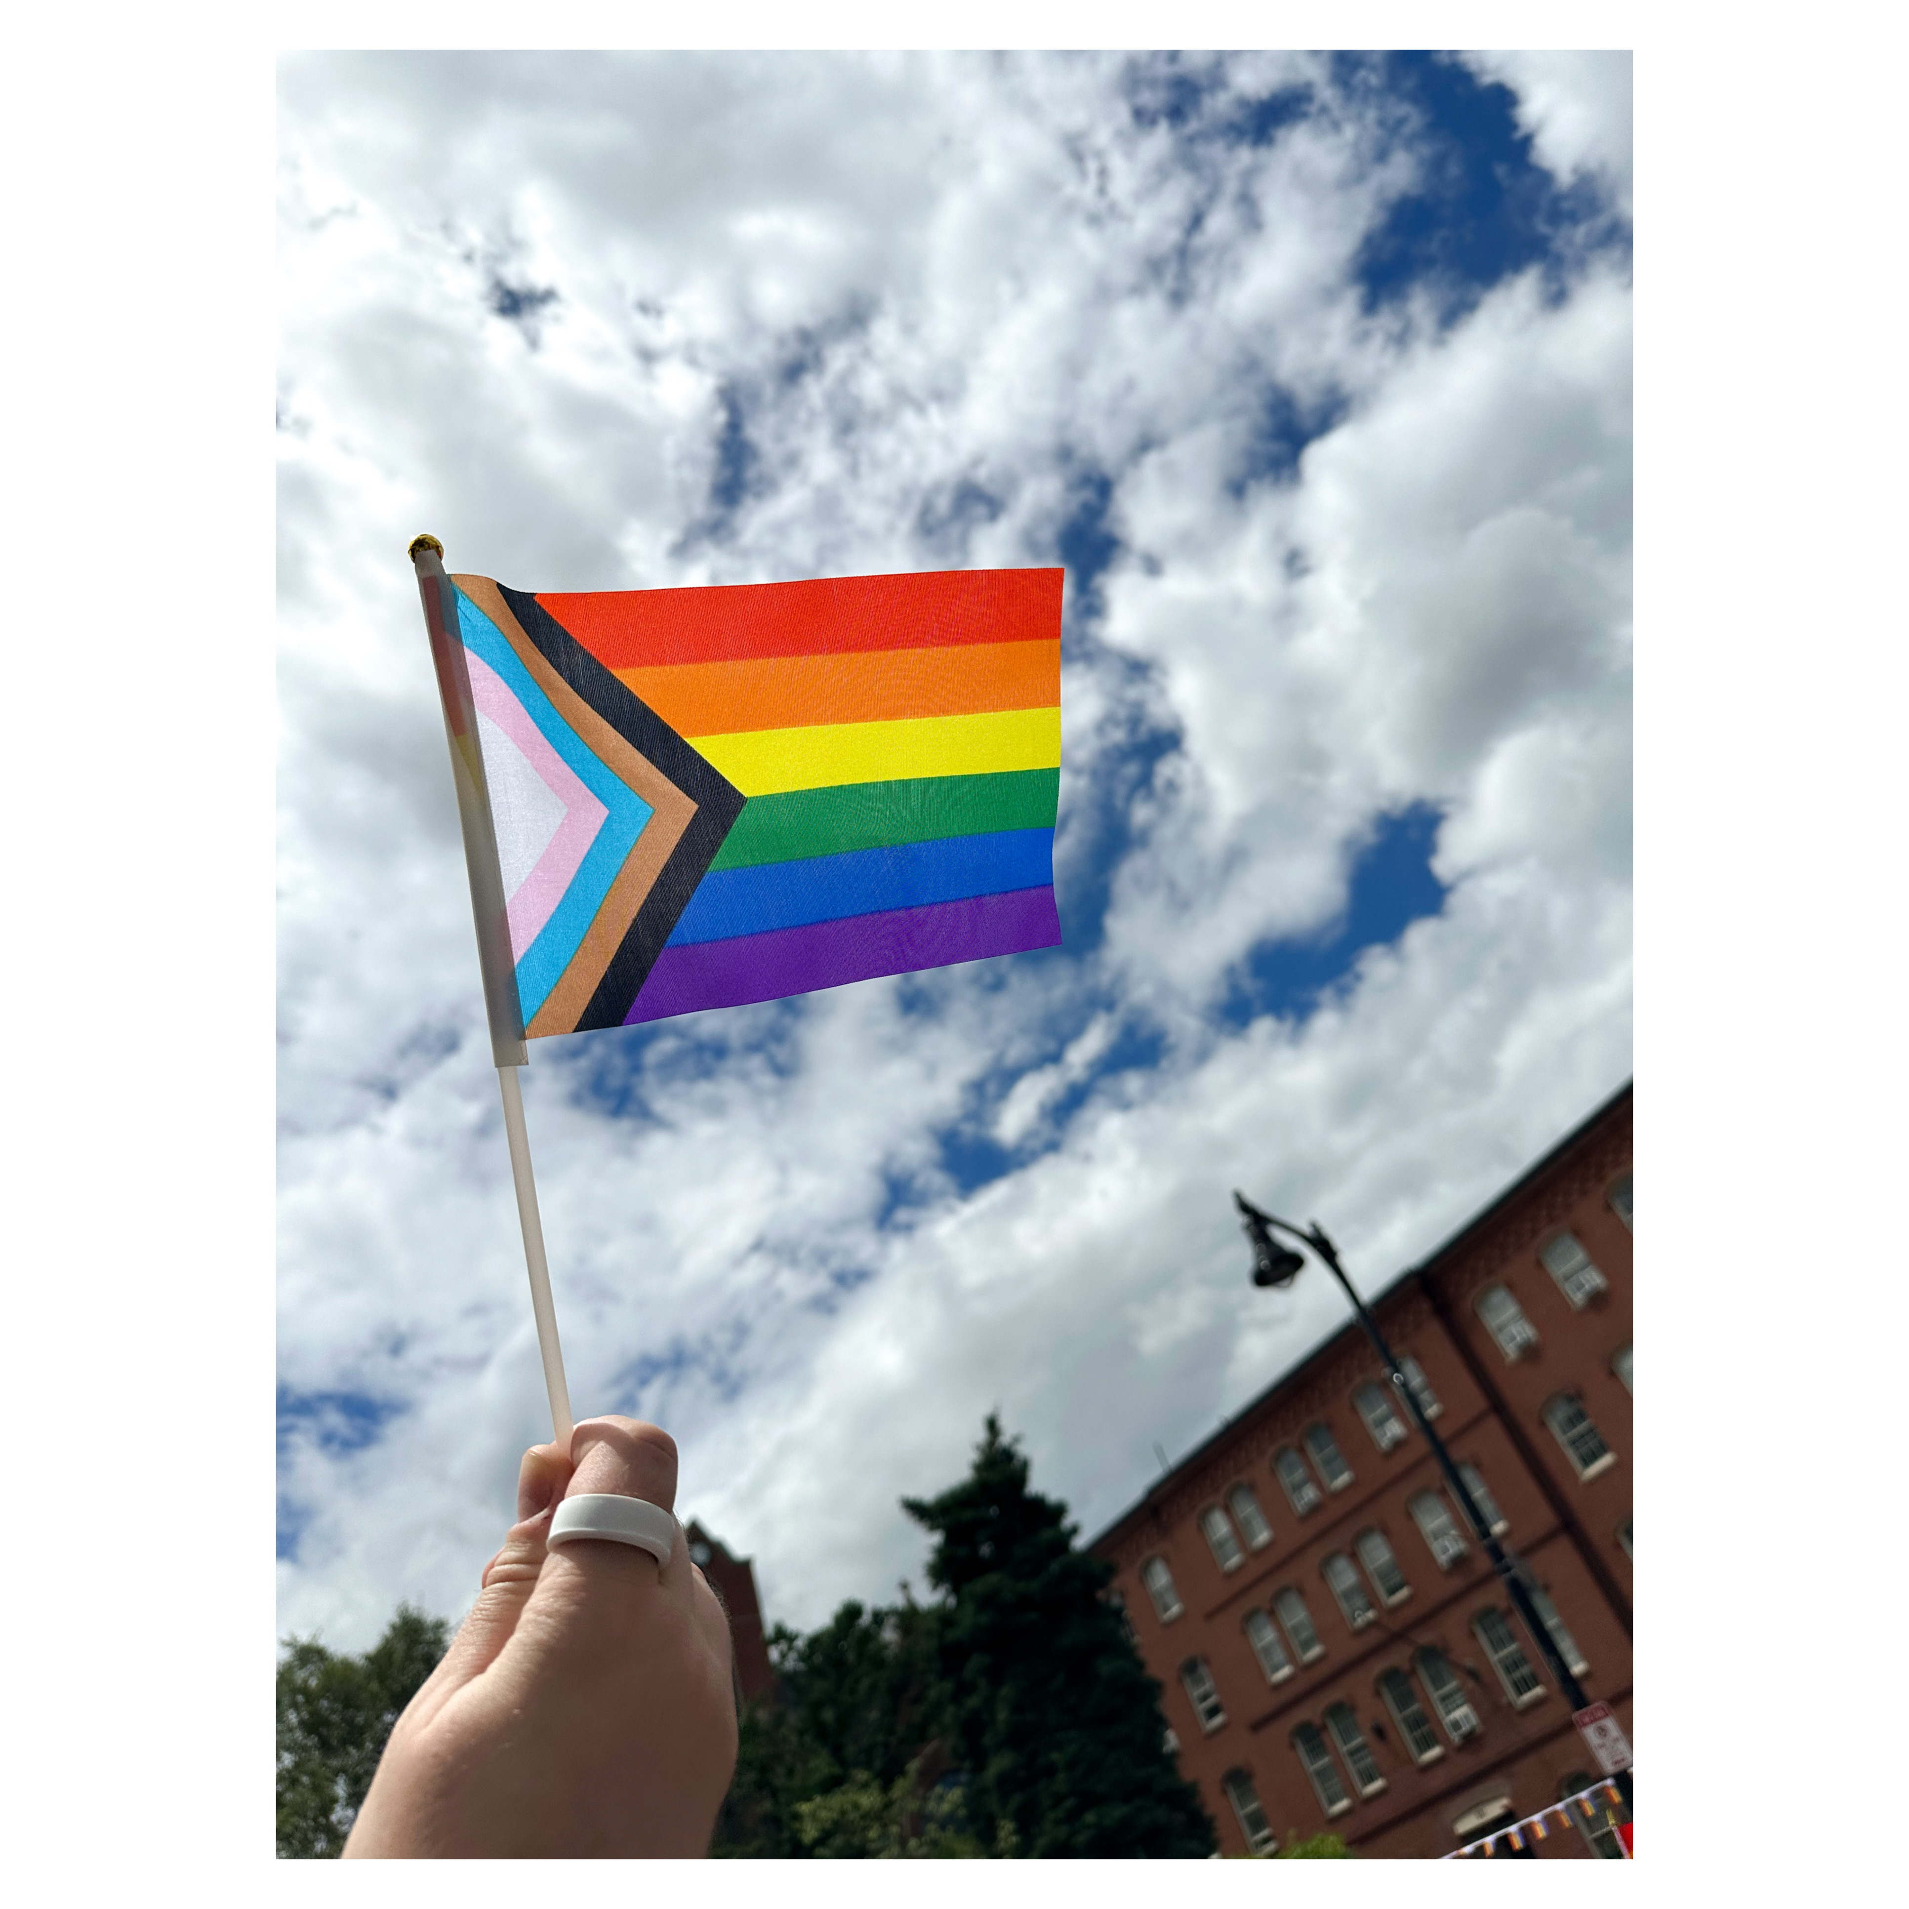
<instances>
[{"instance_id":1,"label":"leafy green tree left of the raised hand and wrist","mask_svg":"<svg viewBox=\"0 0 1909 1909\"><path fill-rule=\"evenodd\" d=\"M451 1640L409 1604L363 1655L290 1638L279 1659L279 1856L338 1856L399 1712Z\"/></svg>"}]
</instances>

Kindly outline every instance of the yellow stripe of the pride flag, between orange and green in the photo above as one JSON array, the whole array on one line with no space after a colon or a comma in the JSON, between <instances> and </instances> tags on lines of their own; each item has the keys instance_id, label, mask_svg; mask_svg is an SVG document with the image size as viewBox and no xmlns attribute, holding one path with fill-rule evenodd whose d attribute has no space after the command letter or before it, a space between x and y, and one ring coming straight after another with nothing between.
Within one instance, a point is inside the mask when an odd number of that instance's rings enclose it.
<instances>
[{"instance_id":1,"label":"yellow stripe of the pride flag, between orange and green","mask_svg":"<svg viewBox=\"0 0 1909 1909\"><path fill-rule=\"evenodd\" d=\"M1058 769L1061 712L996 710L987 716L743 729L735 735L693 735L689 746L745 796L781 796L792 788L899 783L916 775Z\"/></svg>"}]
</instances>

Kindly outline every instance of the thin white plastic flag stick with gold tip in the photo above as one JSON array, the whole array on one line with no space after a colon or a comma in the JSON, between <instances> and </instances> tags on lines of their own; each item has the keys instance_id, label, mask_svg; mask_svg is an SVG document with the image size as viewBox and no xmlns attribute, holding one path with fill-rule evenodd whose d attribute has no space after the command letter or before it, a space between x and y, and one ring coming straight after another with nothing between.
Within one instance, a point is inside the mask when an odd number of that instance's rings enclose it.
<instances>
[{"instance_id":1,"label":"thin white plastic flag stick with gold tip","mask_svg":"<svg viewBox=\"0 0 1909 1909\"><path fill-rule=\"evenodd\" d=\"M544 1258L544 1224L536 1212L536 1180L531 1176L531 1138L523 1126L523 1094L517 1069L529 1061L523 1010L517 1002L517 970L510 954L510 918L504 913L504 872L496 859L496 829L485 785L483 748L477 741L477 704L472 701L464 643L452 628L456 586L445 575L445 546L435 536L410 540L410 561L424 598L424 628L437 666L437 693L451 743L451 775L464 825L464 867L472 884L472 916L477 922L477 966L483 972L485 1012L491 1017L491 1058L504 1096L504 1134L510 1140L510 1176L517 1187L517 1222L523 1227L523 1260L531 1273L531 1311L536 1317L536 1350L544 1357L550 1392L552 1437L571 1449L571 1388L563 1378L557 1344L557 1310L550 1298L550 1262Z\"/></svg>"}]
</instances>

